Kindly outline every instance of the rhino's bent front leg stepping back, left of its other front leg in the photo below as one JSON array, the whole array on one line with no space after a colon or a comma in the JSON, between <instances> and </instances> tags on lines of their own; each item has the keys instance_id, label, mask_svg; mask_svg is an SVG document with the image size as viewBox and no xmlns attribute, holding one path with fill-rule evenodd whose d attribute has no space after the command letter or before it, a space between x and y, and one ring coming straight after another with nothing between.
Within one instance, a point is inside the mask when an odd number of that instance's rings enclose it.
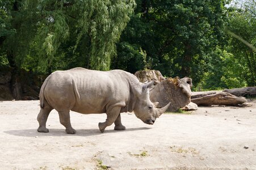
<instances>
[{"instance_id":1,"label":"rhino's bent front leg stepping back, left of its other front leg","mask_svg":"<svg viewBox=\"0 0 256 170\"><path fill-rule=\"evenodd\" d=\"M121 107L114 107L114 108L109 108L107 110L107 119L106 119L106 122L100 122L99 123L99 130L101 132L104 132L105 128L107 126L110 126L112 125L116 118L119 116L120 114L120 110L121 110Z\"/></svg>"}]
</instances>

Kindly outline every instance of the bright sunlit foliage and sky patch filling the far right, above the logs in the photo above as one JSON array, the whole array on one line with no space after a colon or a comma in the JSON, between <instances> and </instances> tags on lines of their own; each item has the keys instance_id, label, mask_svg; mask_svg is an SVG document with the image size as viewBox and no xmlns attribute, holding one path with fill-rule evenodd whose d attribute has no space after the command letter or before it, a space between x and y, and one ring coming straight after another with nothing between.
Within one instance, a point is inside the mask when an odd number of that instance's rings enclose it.
<instances>
[{"instance_id":1,"label":"bright sunlit foliage and sky patch filling the far right, above the logs","mask_svg":"<svg viewBox=\"0 0 256 170\"><path fill-rule=\"evenodd\" d=\"M228 8L226 42L216 48L203 88L256 86L256 2L237 1Z\"/></svg>"}]
</instances>

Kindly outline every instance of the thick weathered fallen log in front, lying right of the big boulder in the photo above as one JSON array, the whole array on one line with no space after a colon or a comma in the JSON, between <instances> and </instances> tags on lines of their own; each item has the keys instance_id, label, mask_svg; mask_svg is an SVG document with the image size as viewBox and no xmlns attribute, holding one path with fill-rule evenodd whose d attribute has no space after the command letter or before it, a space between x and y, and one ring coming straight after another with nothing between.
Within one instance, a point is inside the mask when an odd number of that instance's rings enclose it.
<instances>
[{"instance_id":1,"label":"thick weathered fallen log in front, lying right of the big boulder","mask_svg":"<svg viewBox=\"0 0 256 170\"><path fill-rule=\"evenodd\" d=\"M219 94L207 95L191 101L197 105L240 105L247 100L245 97L237 97L226 92L220 92Z\"/></svg>"}]
</instances>

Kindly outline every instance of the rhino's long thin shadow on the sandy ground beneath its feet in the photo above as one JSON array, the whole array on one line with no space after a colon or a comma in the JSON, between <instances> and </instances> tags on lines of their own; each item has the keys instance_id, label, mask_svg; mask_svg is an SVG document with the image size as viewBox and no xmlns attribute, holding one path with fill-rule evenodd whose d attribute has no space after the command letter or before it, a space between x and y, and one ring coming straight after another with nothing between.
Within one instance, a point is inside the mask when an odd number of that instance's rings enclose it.
<instances>
[{"instance_id":1,"label":"rhino's long thin shadow on the sandy ground beneath its feet","mask_svg":"<svg viewBox=\"0 0 256 170\"><path fill-rule=\"evenodd\" d=\"M79 136L79 137L88 137L93 135L102 135L106 133L125 133L125 131L136 131L136 130L149 130L151 128L128 128L124 131L117 130L106 130L104 133L101 133L99 129L77 129L76 134L66 134L65 129L49 129L49 133L39 133L36 129L19 129L19 130L7 130L3 131L4 133L20 136L20 137L61 137L61 136Z\"/></svg>"}]
</instances>

